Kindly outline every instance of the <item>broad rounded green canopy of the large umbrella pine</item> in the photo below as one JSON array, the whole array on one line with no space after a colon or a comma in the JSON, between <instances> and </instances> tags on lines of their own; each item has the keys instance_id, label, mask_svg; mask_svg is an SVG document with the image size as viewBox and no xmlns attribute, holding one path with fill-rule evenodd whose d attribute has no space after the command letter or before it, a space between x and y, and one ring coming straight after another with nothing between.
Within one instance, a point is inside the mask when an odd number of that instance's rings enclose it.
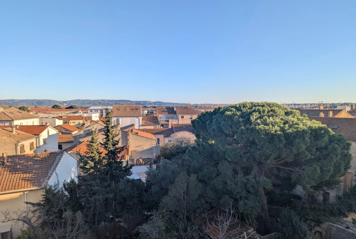
<instances>
[{"instance_id":1,"label":"broad rounded green canopy of the large umbrella pine","mask_svg":"<svg viewBox=\"0 0 356 239\"><path fill-rule=\"evenodd\" d=\"M313 186L345 175L350 143L326 125L276 103L244 102L217 108L193 121L214 160L238 166L245 177L279 183L290 177Z\"/></svg>"}]
</instances>

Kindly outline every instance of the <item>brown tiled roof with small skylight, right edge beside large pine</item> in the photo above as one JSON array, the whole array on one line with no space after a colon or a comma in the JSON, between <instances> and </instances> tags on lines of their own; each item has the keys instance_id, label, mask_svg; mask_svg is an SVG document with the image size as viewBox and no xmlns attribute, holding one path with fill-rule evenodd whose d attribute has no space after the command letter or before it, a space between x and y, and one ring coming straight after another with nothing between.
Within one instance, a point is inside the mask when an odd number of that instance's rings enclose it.
<instances>
[{"instance_id":1,"label":"brown tiled roof with small skylight, right edge beside large pine","mask_svg":"<svg viewBox=\"0 0 356 239\"><path fill-rule=\"evenodd\" d=\"M355 118L325 118L325 117L309 117L310 120L320 121L335 134L342 134L347 140L356 141L356 119Z\"/></svg>"}]
</instances>

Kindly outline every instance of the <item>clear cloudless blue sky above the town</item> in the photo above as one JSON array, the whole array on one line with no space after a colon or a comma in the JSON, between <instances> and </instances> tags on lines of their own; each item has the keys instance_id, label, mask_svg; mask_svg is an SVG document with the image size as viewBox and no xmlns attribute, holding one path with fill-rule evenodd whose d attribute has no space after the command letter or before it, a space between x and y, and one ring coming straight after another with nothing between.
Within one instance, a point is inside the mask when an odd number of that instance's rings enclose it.
<instances>
[{"instance_id":1,"label":"clear cloudless blue sky above the town","mask_svg":"<svg viewBox=\"0 0 356 239\"><path fill-rule=\"evenodd\" d=\"M355 87L355 0L0 0L0 99L331 103Z\"/></svg>"}]
</instances>

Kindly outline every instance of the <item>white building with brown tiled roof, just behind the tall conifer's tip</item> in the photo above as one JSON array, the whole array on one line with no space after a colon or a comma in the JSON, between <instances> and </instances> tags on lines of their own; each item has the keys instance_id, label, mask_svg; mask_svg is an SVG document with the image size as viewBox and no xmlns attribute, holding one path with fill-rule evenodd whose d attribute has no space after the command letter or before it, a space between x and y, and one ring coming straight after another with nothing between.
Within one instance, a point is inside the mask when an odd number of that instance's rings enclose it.
<instances>
[{"instance_id":1,"label":"white building with brown tiled roof, just behind the tall conifer's tip","mask_svg":"<svg viewBox=\"0 0 356 239\"><path fill-rule=\"evenodd\" d=\"M112 108L112 123L125 127L135 124L135 129L142 127L141 105L114 105Z\"/></svg>"}]
</instances>

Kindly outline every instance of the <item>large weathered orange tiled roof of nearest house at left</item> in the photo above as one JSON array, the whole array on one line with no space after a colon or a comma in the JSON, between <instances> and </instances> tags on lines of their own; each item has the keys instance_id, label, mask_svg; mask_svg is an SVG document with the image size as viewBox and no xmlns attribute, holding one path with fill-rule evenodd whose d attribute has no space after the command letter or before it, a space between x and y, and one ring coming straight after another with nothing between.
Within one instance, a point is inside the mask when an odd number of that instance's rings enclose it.
<instances>
[{"instance_id":1,"label":"large weathered orange tiled roof of nearest house at left","mask_svg":"<svg viewBox=\"0 0 356 239\"><path fill-rule=\"evenodd\" d=\"M64 152L0 157L0 192L47 186Z\"/></svg>"}]
</instances>

